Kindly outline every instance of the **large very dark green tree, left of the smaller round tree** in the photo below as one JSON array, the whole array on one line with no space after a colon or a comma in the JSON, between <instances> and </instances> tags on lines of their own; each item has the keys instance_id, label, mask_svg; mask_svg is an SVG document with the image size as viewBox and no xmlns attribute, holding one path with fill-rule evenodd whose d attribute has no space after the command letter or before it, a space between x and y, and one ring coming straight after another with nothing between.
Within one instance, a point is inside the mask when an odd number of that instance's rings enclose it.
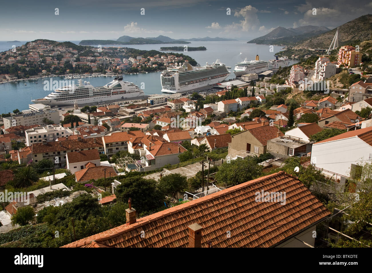
<instances>
[{"instance_id":1,"label":"large very dark green tree, left of the smaller round tree","mask_svg":"<svg viewBox=\"0 0 372 273\"><path fill-rule=\"evenodd\" d=\"M122 203L128 203L132 199L132 207L138 213L153 211L162 205L164 194L157 188L157 182L153 179L144 179L140 176L125 178L120 181L121 185L116 188L116 199Z\"/></svg>"}]
</instances>

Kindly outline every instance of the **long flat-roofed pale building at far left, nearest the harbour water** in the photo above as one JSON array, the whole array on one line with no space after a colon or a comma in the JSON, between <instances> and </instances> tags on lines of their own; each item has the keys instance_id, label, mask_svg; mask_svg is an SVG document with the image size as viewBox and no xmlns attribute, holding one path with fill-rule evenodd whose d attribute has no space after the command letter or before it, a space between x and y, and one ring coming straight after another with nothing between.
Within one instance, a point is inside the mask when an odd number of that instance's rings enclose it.
<instances>
[{"instance_id":1,"label":"long flat-roofed pale building at far left, nearest the harbour water","mask_svg":"<svg viewBox=\"0 0 372 273\"><path fill-rule=\"evenodd\" d=\"M19 114L12 117L4 117L4 129L13 126L30 126L30 125L43 125L44 118L53 121L55 124L60 124L60 112L54 110L33 111L28 114Z\"/></svg>"}]
</instances>

